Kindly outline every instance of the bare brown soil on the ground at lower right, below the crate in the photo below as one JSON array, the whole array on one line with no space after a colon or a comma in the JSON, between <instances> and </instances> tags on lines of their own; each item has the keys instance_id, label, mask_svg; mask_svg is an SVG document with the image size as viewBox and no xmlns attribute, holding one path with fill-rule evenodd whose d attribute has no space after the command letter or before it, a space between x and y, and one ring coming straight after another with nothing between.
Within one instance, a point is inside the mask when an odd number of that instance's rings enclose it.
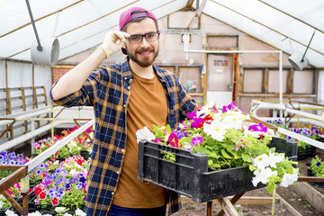
<instances>
[{"instance_id":1,"label":"bare brown soil on the ground at lower right, below the crate","mask_svg":"<svg viewBox=\"0 0 324 216\"><path fill-rule=\"evenodd\" d=\"M324 159L324 150L317 148L317 155ZM300 169L300 174L302 176L307 176L307 166L306 162L311 161L311 158L298 161L298 167ZM311 185L311 184L310 184ZM320 193L324 194L324 189L311 185ZM293 208L298 211L303 216L324 216L324 212L317 211L309 202L307 202L301 195L296 193L291 187L277 187L277 194L281 196L286 202L288 202ZM254 191L245 193L247 196L257 196L265 197L272 194L266 193L266 188L260 188ZM324 204L324 203L323 203ZM211 215L216 215L220 211L220 205L217 201L212 202ZM271 215L272 205L244 205L242 206L242 211L244 216L261 216L261 215ZM196 202L183 202L183 207L181 211L173 214L175 216L202 216L207 215L206 202L196 203ZM280 216L293 216L293 212L288 211L280 203L275 204L275 215Z\"/></svg>"}]
</instances>

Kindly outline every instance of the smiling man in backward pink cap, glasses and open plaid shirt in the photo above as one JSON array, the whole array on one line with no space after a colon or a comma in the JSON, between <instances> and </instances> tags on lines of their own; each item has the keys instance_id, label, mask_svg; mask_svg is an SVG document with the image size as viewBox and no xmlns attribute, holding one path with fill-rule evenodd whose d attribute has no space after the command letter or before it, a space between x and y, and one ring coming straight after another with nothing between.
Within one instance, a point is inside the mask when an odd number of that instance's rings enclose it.
<instances>
[{"instance_id":1,"label":"smiling man in backward pink cap, glasses and open plaid shirt","mask_svg":"<svg viewBox=\"0 0 324 216\"><path fill-rule=\"evenodd\" d=\"M120 17L120 30L108 32L83 62L62 76L50 96L65 106L93 105L94 148L85 212L88 215L165 215L179 209L178 196L137 180L136 131L153 124L172 128L196 109L174 74L153 62L159 31L150 11L133 7ZM99 67L122 50L122 64ZM95 70L94 70L95 69Z\"/></svg>"}]
</instances>

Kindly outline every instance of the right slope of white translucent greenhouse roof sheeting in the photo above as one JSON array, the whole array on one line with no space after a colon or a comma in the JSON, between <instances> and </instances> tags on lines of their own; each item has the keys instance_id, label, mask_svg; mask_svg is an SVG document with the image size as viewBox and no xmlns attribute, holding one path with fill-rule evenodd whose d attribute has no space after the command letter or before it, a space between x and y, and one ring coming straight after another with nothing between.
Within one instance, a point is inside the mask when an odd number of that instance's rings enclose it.
<instances>
[{"instance_id":1,"label":"right slope of white translucent greenhouse roof sheeting","mask_svg":"<svg viewBox=\"0 0 324 216\"><path fill-rule=\"evenodd\" d=\"M294 13L290 14L292 11ZM307 58L314 67L324 66L323 1L306 4L302 0L211 0L203 13L288 54L303 54L314 29L318 28L307 51Z\"/></svg>"}]
</instances>

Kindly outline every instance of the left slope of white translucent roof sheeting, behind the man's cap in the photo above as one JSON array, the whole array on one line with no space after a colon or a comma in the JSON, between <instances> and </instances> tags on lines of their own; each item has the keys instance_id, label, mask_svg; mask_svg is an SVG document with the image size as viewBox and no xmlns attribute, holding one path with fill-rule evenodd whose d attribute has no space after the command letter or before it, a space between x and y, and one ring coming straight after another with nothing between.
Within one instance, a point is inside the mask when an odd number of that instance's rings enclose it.
<instances>
[{"instance_id":1,"label":"left slope of white translucent roof sheeting, behind the man's cap","mask_svg":"<svg viewBox=\"0 0 324 216\"><path fill-rule=\"evenodd\" d=\"M118 30L121 12L132 6L152 10L157 19L185 7L186 0L30 0L40 37L59 40L59 59L93 48L106 31ZM25 1L0 0L0 58L31 60L35 40Z\"/></svg>"}]
</instances>

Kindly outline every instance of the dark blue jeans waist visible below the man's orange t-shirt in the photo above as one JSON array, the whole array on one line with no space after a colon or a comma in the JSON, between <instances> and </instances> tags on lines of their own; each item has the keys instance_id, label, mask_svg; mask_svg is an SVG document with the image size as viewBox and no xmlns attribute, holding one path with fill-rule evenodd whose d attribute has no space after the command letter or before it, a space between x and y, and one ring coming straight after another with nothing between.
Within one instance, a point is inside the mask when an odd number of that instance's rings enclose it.
<instances>
[{"instance_id":1,"label":"dark blue jeans waist visible below the man's orange t-shirt","mask_svg":"<svg viewBox=\"0 0 324 216\"><path fill-rule=\"evenodd\" d=\"M108 213L109 216L165 216L166 205L153 209L130 209L113 205Z\"/></svg>"}]
</instances>

